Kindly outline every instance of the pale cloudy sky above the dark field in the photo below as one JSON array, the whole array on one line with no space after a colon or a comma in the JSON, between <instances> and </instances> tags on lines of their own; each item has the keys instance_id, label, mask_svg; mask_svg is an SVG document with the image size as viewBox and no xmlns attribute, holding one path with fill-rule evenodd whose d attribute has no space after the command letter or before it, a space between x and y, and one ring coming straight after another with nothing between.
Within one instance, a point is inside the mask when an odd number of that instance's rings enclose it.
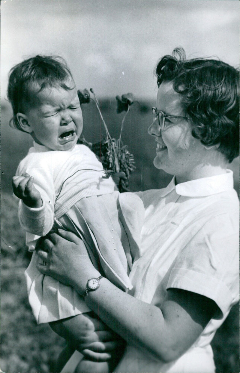
<instances>
[{"instance_id":1,"label":"pale cloudy sky above the dark field","mask_svg":"<svg viewBox=\"0 0 240 373\"><path fill-rule=\"evenodd\" d=\"M154 98L154 66L182 46L192 57L239 65L238 0L2 0L1 100L9 70L60 55L77 88L99 97Z\"/></svg>"}]
</instances>

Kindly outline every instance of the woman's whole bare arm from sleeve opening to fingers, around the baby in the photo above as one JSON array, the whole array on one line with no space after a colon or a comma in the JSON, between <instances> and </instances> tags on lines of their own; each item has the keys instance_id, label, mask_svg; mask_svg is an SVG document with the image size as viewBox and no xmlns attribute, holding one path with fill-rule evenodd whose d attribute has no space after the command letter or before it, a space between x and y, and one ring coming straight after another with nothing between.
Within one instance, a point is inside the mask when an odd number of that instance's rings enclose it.
<instances>
[{"instance_id":1,"label":"woman's whole bare arm from sleeve opening to fingers, around the baby","mask_svg":"<svg viewBox=\"0 0 240 373\"><path fill-rule=\"evenodd\" d=\"M83 294L87 280L99 277L83 242L73 233L60 231L45 240L39 257L40 272L51 275ZM143 348L163 362L175 360L196 341L217 305L202 295L169 289L160 308L121 291L108 279L85 297L87 305L128 344Z\"/></svg>"}]
</instances>

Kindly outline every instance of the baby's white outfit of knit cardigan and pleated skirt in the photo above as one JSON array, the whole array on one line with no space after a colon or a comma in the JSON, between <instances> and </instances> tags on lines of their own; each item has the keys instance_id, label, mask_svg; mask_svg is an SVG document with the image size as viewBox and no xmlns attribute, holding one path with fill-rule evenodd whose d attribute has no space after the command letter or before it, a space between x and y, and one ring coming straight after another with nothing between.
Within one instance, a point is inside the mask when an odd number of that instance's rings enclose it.
<instances>
[{"instance_id":1,"label":"baby's white outfit of knit cardigan and pleated skirt","mask_svg":"<svg viewBox=\"0 0 240 373\"><path fill-rule=\"evenodd\" d=\"M93 264L123 290L132 257L139 256L144 206L132 193L120 194L112 178L105 178L102 163L85 145L71 151L51 151L34 143L20 162L17 175L34 177L42 206L33 209L19 202L19 220L26 244L33 251L25 271L29 303L37 323L46 323L90 311L83 298L36 268L36 240L51 229L63 228L80 236Z\"/></svg>"}]
</instances>

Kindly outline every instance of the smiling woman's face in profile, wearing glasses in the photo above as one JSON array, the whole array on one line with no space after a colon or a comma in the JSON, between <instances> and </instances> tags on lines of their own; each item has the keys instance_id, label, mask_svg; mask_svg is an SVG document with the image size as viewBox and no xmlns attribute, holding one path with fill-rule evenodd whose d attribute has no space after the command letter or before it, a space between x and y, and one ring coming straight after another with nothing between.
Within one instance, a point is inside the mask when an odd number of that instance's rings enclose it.
<instances>
[{"instance_id":1,"label":"smiling woman's face in profile, wearing glasses","mask_svg":"<svg viewBox=\"0 0 240 373\"><path fill-rule=\"evenodd\" d=\"M181 94L175 92L172 82L163 82L157 93L156 107L168 115L184 116ZM175 175L177 182L191 180L192 170L201 162L204 147L191 135L191 125L187 119L165 118L161 131L158 120L148 128L157 142L156 168Z\"/></svg>"}]
</instances>

